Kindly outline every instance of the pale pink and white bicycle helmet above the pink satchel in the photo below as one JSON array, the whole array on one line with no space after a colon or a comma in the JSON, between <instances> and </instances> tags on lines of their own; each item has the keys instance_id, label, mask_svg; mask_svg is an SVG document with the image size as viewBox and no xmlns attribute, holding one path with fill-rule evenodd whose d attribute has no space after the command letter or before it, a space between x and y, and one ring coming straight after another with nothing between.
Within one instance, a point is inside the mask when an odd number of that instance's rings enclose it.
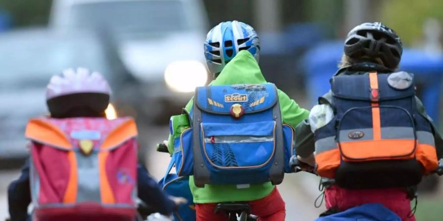
<instances>
[{"instance_id":1,"label":"pale pink and white bicycle helmet above the pink satchel","mask_svg":"<svg viewBox=\"0 0 443 221\"><path fill-rule=\"evenodd\" d=\"M66 69L51 78L46 87L46 103L53 117L76 117L103 113L111 89L98 72L86 68Z\"/></svg>"}]
</instances>

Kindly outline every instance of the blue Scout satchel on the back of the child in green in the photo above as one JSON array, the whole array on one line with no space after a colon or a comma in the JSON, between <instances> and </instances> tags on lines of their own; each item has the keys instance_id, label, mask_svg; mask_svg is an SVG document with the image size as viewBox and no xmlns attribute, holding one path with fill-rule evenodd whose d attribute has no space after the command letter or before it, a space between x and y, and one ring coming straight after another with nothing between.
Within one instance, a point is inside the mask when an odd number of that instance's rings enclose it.
<instances>
[{"instance_id":1,"label":"blue Scout satchel on the back of the child in green","mask_svg":"<svg viewBox=\"0 0 443 221\"><path fill-rule=\"evenodd\" d=\"M197 187L277 185L290 171L293 129L282 123L274 84L198 87L190 118L174 152L179 175L194 175Z\"/></svg>"}]
</instances>

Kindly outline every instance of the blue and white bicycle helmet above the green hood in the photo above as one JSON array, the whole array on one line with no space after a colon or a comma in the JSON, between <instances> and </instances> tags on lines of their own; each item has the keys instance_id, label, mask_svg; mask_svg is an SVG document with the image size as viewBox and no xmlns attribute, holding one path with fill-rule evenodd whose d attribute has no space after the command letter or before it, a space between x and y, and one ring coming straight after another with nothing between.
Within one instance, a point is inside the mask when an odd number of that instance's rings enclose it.
<instances>
[{"instance_id":1,"label":"blue and white bicycle helmet above the green hood","mask_svg":"<svg viewBox=\"0 0 443 221\"><path fill-rule=\"evenodd\" d=\"M260 40L254 28L238 21L222 22L212 28L204 43L209 71L217 77L241 50L248 50L258 62Z\"/></svg>"}]
</instances>

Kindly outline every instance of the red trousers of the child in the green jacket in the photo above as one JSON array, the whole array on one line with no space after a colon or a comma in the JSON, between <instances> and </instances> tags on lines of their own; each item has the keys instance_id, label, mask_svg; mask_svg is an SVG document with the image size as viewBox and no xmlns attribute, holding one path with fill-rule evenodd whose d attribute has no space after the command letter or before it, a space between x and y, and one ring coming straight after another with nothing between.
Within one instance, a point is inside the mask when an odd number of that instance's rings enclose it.
<instances>
[{"instance_id":1,"label":"red trousers of the child in the green jacket","mask_svg":"<svg viewBox=\"0 0 443 221\"><path fill-rule=\"evenodd\" d=\"M249 201L248 203L251 207L251 213L258 216L258 221L285 221L285 201L283 201L277 188L268 196ZM214 213L216 204L217 203L196 203L196 221L227 221L226 214Z\"/></svg>"}]
</instances>

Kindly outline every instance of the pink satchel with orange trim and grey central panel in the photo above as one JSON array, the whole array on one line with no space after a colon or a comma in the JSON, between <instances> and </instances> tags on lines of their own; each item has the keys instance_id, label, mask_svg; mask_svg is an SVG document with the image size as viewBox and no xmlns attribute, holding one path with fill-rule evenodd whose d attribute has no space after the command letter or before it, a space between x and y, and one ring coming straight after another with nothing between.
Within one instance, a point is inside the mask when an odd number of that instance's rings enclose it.
<instances>
[{"instance_id":1,"label":"pink satchel with orange trim and grey central panel","mask_svg":"<svg viewBox=\"0 0 443 221\"><path fill-rule=\"evenodd\" d=\"M34 118L31 195L36 220L133 220L137 128L132 118Z\"/></svg>"}]
</instances>

